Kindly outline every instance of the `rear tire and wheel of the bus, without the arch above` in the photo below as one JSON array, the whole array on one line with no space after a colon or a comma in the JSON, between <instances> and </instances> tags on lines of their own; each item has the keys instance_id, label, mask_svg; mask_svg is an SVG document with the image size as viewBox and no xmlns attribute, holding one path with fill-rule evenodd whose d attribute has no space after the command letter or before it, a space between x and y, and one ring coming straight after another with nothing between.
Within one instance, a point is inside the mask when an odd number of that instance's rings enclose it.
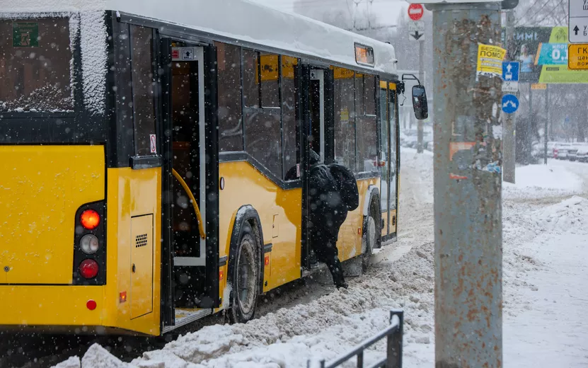
<instances>
[{"instance_id":1,"label":"rear tire and wheel of the bus, without the arch above","mask_svg":"<svg viewBox=\"0 0 588 368\"><path fill-rule=\"evenodd\" d=\"M244 222L235 256L229 264L232 270L228 311L231 323L246 323L255 318L261 270L258 248L253 229Z\"/></svg>"}]
</instances>

